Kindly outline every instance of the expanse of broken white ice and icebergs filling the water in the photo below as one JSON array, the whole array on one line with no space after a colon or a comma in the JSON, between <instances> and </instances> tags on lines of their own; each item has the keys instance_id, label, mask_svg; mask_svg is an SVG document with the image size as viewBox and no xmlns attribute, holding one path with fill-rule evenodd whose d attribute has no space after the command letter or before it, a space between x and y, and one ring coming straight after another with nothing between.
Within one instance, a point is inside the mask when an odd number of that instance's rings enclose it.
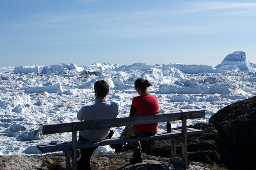
<instances>
[{"instance_id":1,"label":"expanse of broken white ice and icebergs filling the water","mask_svg":"<svg viewBox=\"0 0 256 170\"><path fill-rule=\"evenodd\" d=\"M223 107L255 96L255 66L238 51L215 68L145 63L0 67L0 155L42 154L36 144L70 141L71 133L42 135L42 125L78 121L77 111L94 103L96 80L110 84L107 98L118 104L118 117L128 117L132 98L138 96L134 81L142 77L153 84L149 91L158 98L161 114L205 109L205 118L188 120L193 125L208 123ZM115 128L114 135L122 129ZM165 130L166 123L159 123L159 131ZM109 146L97 151L113 152Z\"/></svg>"}]
</instances>

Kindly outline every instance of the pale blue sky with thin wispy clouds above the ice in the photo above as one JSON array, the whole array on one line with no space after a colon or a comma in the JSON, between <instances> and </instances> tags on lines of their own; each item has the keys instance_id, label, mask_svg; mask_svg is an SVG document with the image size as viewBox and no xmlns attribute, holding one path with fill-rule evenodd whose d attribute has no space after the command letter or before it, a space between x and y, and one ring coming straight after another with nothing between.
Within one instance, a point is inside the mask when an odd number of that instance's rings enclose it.
<instances>
[{"instance_id":1,"label":"pale blue sky with thin wispy clouds above the ice","mask_svg":"<svg viewBox=\"0 0 256 170\"><path fill-rule=\"evenodd\" d=\"M256 63L255 1L0 0L0 66Z\"/></svg>"}]
</instances>

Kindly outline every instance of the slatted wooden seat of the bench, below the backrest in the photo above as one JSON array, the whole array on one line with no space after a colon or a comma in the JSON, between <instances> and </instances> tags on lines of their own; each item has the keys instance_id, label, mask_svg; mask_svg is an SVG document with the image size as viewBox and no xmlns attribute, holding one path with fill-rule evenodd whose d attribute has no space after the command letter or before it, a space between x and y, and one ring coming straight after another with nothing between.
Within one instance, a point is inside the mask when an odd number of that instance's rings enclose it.
<instances>
[{"instance_id":1,"label":"slatted wooden seat of the bench, below the backrest","mask_svg":"<svg viewBox=\"0 0 256 170\"><path fill-rule=\"evenodd\" d=\"M204 133L204 130L201 129L194 129L188 128L187 135L194 135ZM152 139L161 139L161 138L168 138L168 137L176 137L181 135L181 129L172 130L171 133L166 132L158 132L156 135L151 137L118 137L118 138L111 138L105 139L102 141L77 141L77 149L86 148L86 147L99 147L104 145L113 145L118 143L128 143L128 142L135 142L135 141L147 141ZM72 150L72 143L71 142L62 142L57 144L39 144L37 148L40 149L43 153L46 152L57 152L62 150Z\"/></svg>"}]
</instances>

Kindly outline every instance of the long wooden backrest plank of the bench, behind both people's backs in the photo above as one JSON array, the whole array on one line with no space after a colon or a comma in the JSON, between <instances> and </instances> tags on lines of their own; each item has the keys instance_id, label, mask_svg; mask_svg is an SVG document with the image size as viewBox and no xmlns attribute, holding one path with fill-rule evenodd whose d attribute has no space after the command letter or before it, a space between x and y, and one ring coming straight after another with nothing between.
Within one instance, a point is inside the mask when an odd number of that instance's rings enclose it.
<instances>
[{"instance_id":1,"label":"long wooden backrest plank of the bench, behind both people's backs","mask_svg":"<svg viewBox=\"0 0 256 170\"><path fill-rule=\"evenodd\" d=\"M73 124L76 124L77 131L91 130L91 129L102 129L108 127L120 127L129 125L140 125L147 123L166 122L182 120L182 113L186 113L187 119L197 119L205 117L205 110L200 111L188 111L179 113L167 113L158 115L146 115L136 117L123 117L116 119L108 119L101 121L80 121L72 123L60 123L52 125L43 125L42 134L53 134L53 133L64 133L71 132Z\"/></svg>"}]
</instances>

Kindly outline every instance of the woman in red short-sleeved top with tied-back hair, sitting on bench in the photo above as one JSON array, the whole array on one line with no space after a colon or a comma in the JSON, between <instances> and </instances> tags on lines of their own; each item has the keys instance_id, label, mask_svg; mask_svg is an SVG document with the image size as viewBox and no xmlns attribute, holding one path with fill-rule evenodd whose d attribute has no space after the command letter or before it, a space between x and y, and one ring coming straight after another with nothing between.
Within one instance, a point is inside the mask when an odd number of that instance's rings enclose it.
<instances>
[{"instance_id":1,"label":"woman in red short-sleeved top with tied-back hair, sitting on bench","mask_svg":"<svg viewBox=\"0 0 256 170\"><path fill-rule=\"evenodd\" d=\"M130 109L130 117L132 116L143 116L143 115L156 115L159 114L159 105L158 100L155 96L148 93L148 87L152 86L152 84L148 80L144 80L143 78L138 78L134 82L135 90L138 92L140 96L134 97L132 99L132 106ZM130 127L125 127L121 136L127 135L129 132L131 135L136 136L153 136L157 132L158 123L150 123L143 125L133 125ZM132 159L130 159L130 163L139 163L142 162L141 156L141 145L140 141L131 142L130 143L132 150L134 152ZM116 152L120 152L122 149L122 144L119 145L110 145L110 147L114 148Z\"/></svg>"}]
</instances>

